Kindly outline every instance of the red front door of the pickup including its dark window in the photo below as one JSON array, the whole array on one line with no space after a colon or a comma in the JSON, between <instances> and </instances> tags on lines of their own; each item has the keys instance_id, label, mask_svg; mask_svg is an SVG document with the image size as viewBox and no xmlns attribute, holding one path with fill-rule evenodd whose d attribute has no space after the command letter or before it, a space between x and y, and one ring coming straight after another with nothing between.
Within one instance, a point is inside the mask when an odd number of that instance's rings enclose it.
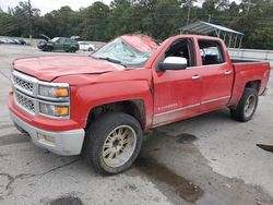
<instances>
[{"instance_id":1,"label":"red front door of the pickup including its dark window","mask_svg":"<svg viewBox=\"0 0 273 205\"><path fill-rule=\"evenodd\" d=\"M195 67L193 39L175 40L161 61L168 57L181 57L187 68L159 72L153 69L154 119L153 125L165 124L195 116L201 101L201 68Z\"/></svg>"}]
</instances>

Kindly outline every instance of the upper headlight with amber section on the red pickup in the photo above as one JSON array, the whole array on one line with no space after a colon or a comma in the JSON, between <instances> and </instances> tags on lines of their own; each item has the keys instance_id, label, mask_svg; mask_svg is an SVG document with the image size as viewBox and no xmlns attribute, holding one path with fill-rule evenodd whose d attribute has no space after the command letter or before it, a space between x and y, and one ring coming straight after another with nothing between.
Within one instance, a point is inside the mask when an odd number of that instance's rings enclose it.
<instances>
[{"instance_id":1,"label":"upper headlight with amber section on the red pickup","mask_svg":"<svg viewBox=\"0 0 273 205\"><path fill-rule=\"evenodd\" d=\"M49 86L49 85L39 85L38 95L41 97L49 98L66 98L69 97L69 85L67 86Z\"/></svg>"}]
</instances>

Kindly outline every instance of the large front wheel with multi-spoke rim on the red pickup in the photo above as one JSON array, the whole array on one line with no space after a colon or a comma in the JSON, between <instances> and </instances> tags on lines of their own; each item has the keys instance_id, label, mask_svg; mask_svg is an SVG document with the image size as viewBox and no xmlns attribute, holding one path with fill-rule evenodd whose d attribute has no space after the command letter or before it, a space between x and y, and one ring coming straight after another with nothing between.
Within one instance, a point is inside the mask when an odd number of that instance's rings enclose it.
<instances>
[{"instance_id":1,"label":"large front wheel with multi-spoke rim on the red pickup","mask_svg":"<svg viewBox=\"0 0 273 205\"><path fill-rule=\"evenodd\" d=\"M140 123L127 113L108 112L87 128L83 156L96 172L116 174L131 167L141 145Z\"/></svg>"}]
</instances>

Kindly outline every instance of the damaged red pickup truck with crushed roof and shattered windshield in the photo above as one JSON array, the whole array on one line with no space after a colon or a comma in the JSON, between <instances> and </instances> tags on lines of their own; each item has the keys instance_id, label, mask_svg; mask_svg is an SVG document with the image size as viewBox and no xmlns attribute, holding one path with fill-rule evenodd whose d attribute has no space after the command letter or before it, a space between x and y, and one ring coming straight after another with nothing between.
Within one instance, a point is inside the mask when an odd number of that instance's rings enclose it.
<instances>
[{"instance_id":1,"label":"damaged red pickup truck with crushed roof and shattered windshield","mask_svg":"<svg viewBox=\"0 0 273 205\"><path fill-rule=\"evenodd\" d=\"M158 46L124 35L88 57L17 59L11 73L9 109L21 131L114 174L132 165L149 129L224 107L250 120L270 64L232 60L219 38L178 35Z\"/></svg>"}]
</instances>

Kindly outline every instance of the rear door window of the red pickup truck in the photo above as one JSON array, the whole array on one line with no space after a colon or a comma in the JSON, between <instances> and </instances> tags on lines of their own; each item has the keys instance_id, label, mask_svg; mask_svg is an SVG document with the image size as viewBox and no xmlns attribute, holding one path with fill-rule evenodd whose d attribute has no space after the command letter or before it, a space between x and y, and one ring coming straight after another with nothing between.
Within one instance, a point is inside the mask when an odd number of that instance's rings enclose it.
<instances>
[{"instance_id":1,"label":"rear door window of the red pickup truck","mask_svg":"<svg viewBox=\"0 0 273 205\"><path fill-rule=\"evenodd\" d=\"M199 40L202 64L221 64L225 62L223 48L216 40Z\"/></svg>"}]
</instances>

